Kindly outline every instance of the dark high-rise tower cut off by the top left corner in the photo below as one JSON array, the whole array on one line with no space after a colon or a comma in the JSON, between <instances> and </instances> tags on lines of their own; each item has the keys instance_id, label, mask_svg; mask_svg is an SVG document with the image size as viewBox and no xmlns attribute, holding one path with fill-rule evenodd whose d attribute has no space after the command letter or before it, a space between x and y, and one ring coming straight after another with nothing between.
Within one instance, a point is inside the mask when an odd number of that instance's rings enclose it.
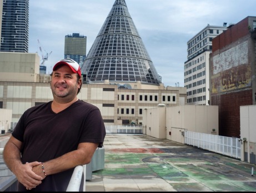
<instances>
[{"instance_id":1,"label":"dark high-rise tower cut off by the top left corner","mask_svg":"<svg viewBox=\"0 0 256 193\"><path fill-rule=\"evenodd\" d=\"M29 0L1 2L3 11L0 51L28 53Z\"/></svg>"}]
</instances>

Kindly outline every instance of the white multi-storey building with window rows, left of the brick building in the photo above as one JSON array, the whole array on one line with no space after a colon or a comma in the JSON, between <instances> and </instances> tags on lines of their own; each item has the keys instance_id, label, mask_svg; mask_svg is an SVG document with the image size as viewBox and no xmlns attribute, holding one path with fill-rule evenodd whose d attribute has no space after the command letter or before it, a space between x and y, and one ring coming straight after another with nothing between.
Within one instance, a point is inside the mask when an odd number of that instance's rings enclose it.
<instances>
[{"instance_id":1,"label":"white multi-storey building with window rows, left of the brick building","mask_svg":"<svg viewBox=\"0 0 256 193\"><path fill-rule=\"evenodd\" d=\"M209 55L212 40L227 30L223 26L207 25L187 43L188 56L184 63L184 86L188 105L209 105Z\"/></svg>"}]
</instances>

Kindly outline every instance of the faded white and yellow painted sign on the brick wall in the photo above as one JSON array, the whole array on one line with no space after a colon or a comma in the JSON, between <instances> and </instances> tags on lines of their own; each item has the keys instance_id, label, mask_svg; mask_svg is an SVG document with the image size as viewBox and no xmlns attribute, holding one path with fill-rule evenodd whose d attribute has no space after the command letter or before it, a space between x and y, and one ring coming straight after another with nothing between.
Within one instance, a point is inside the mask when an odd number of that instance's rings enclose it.
<instances>
[{"instance_id":1,"label":"faded white and yellow painted sign on the brick wall","mask_svg":"<svg viewBox=\"0 0 256 193\"><path fill-rule=\"evenodd\" d=\"M251 86L252 75L248 60L248 41L213 56L212 93Z\"/></svg>"}]
</instances>

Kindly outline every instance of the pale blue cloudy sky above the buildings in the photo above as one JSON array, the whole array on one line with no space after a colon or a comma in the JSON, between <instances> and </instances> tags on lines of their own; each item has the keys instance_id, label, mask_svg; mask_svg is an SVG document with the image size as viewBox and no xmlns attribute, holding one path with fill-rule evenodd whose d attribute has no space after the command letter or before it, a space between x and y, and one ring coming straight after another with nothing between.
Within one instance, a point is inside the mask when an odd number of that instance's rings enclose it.
<instances>
[{"instance_id":1,"label":"pale blue cloudy sky above the buildings","mask_svg":"<svg viewBox=\"0 0 256 193\"><path fill-rule=\"evenodd\" d=\"M115 0L29 1L29 53L47 74L64 58L64 38L87 36L87 54ZM235 24L256 16L255 0L126 0L128 11L164 86L184 86L187 42L208 24ZM42 48L42 51L39 49ZM51 53L51 54L50 54Z\"/></svg>"}]
</instances>

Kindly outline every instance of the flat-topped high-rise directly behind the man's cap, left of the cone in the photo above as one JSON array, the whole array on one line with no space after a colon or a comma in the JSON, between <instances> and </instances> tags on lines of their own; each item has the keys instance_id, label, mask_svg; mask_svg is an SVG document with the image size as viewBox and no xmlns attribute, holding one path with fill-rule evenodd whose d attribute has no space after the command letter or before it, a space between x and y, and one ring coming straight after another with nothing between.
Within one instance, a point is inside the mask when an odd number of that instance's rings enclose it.
<instances>
[{"instance_id":1,"label":"flat-topped high-rise directly behind the man's cap, left of the cone","mask_svg":"<svg viewBox=\"0 0 256 193\"><path fill-rule=\"evenodd\" d=\"M64 58L70 58L82 66L86 59L87 37L73 33L65 36Z\"/></svg>"}]
</instances>

